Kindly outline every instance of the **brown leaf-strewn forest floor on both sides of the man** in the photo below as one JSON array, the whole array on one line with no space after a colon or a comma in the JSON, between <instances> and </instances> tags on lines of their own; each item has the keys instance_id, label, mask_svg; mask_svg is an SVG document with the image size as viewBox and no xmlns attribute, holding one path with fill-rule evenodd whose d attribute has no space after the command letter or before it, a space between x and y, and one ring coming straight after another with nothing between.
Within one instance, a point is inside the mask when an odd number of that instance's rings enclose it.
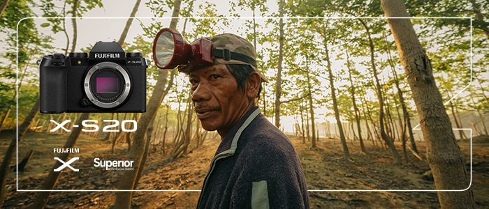
<instances>
[{"instance_id":1,"label":"brown leaf-strewn forest floor on both sides of the man","mask_svg":"<svg viewBox=\"0 0 489 209\"><path fill-rule=\"evenodd\" d=\"M13 132L0 133L0 155L3 156ZM56 160L53 148L62 148L68 135L28 132L20 142L19 157L31 149L34 155L24 172L19 172L18 189L38 189L43 184ZM102 137L102 138L100 138ZM94 158L116 160L127 154L126 145L116 146L112 154L110 143L103 135L92 138L82 134L75 148L80 157L71 164L78 172L66 168L62 171L54 189L117 189L124 171L105 171L94 167ZM365 141L367 154L360 153L358 141L348 141L353 162L344 160L339 139L321 139L319 149L310 150L310 142L302 144L298 137L289 136L298 150L305 173L307 188L312 190L415 190L435 189L432 180L425 180L423 173L430 167L418 160L408 150L411 163L393 164L391 153ZM306 140L307 141L307 140ZM220 139L208 139L200 148L189 148L191 152L170 164L163 164L168 157L161 153L149 155L138 189L147 190L199 190L214 156ZM470 141L458 142L469 162ZM395 142L402 155L400 143ZM425 145L417 142L418 150L425 155ZM489 137L474 137L472 146L472 190L479 208L489 208ZM20 159L22 160L22 159ZM126 159L129 160L129 159ZM14 159L15 164L15 159ZM467 170L470 169L467 164ZM15 170L8 178L8 194L2 208L29 208L36 192L15 191ZM116 192L52 192L45 208L111 208ZM134 192L133 208L195 208L200 192ZM439 208L437 192L309 192L310 208Z\"/></svg>"}]
</instances>

